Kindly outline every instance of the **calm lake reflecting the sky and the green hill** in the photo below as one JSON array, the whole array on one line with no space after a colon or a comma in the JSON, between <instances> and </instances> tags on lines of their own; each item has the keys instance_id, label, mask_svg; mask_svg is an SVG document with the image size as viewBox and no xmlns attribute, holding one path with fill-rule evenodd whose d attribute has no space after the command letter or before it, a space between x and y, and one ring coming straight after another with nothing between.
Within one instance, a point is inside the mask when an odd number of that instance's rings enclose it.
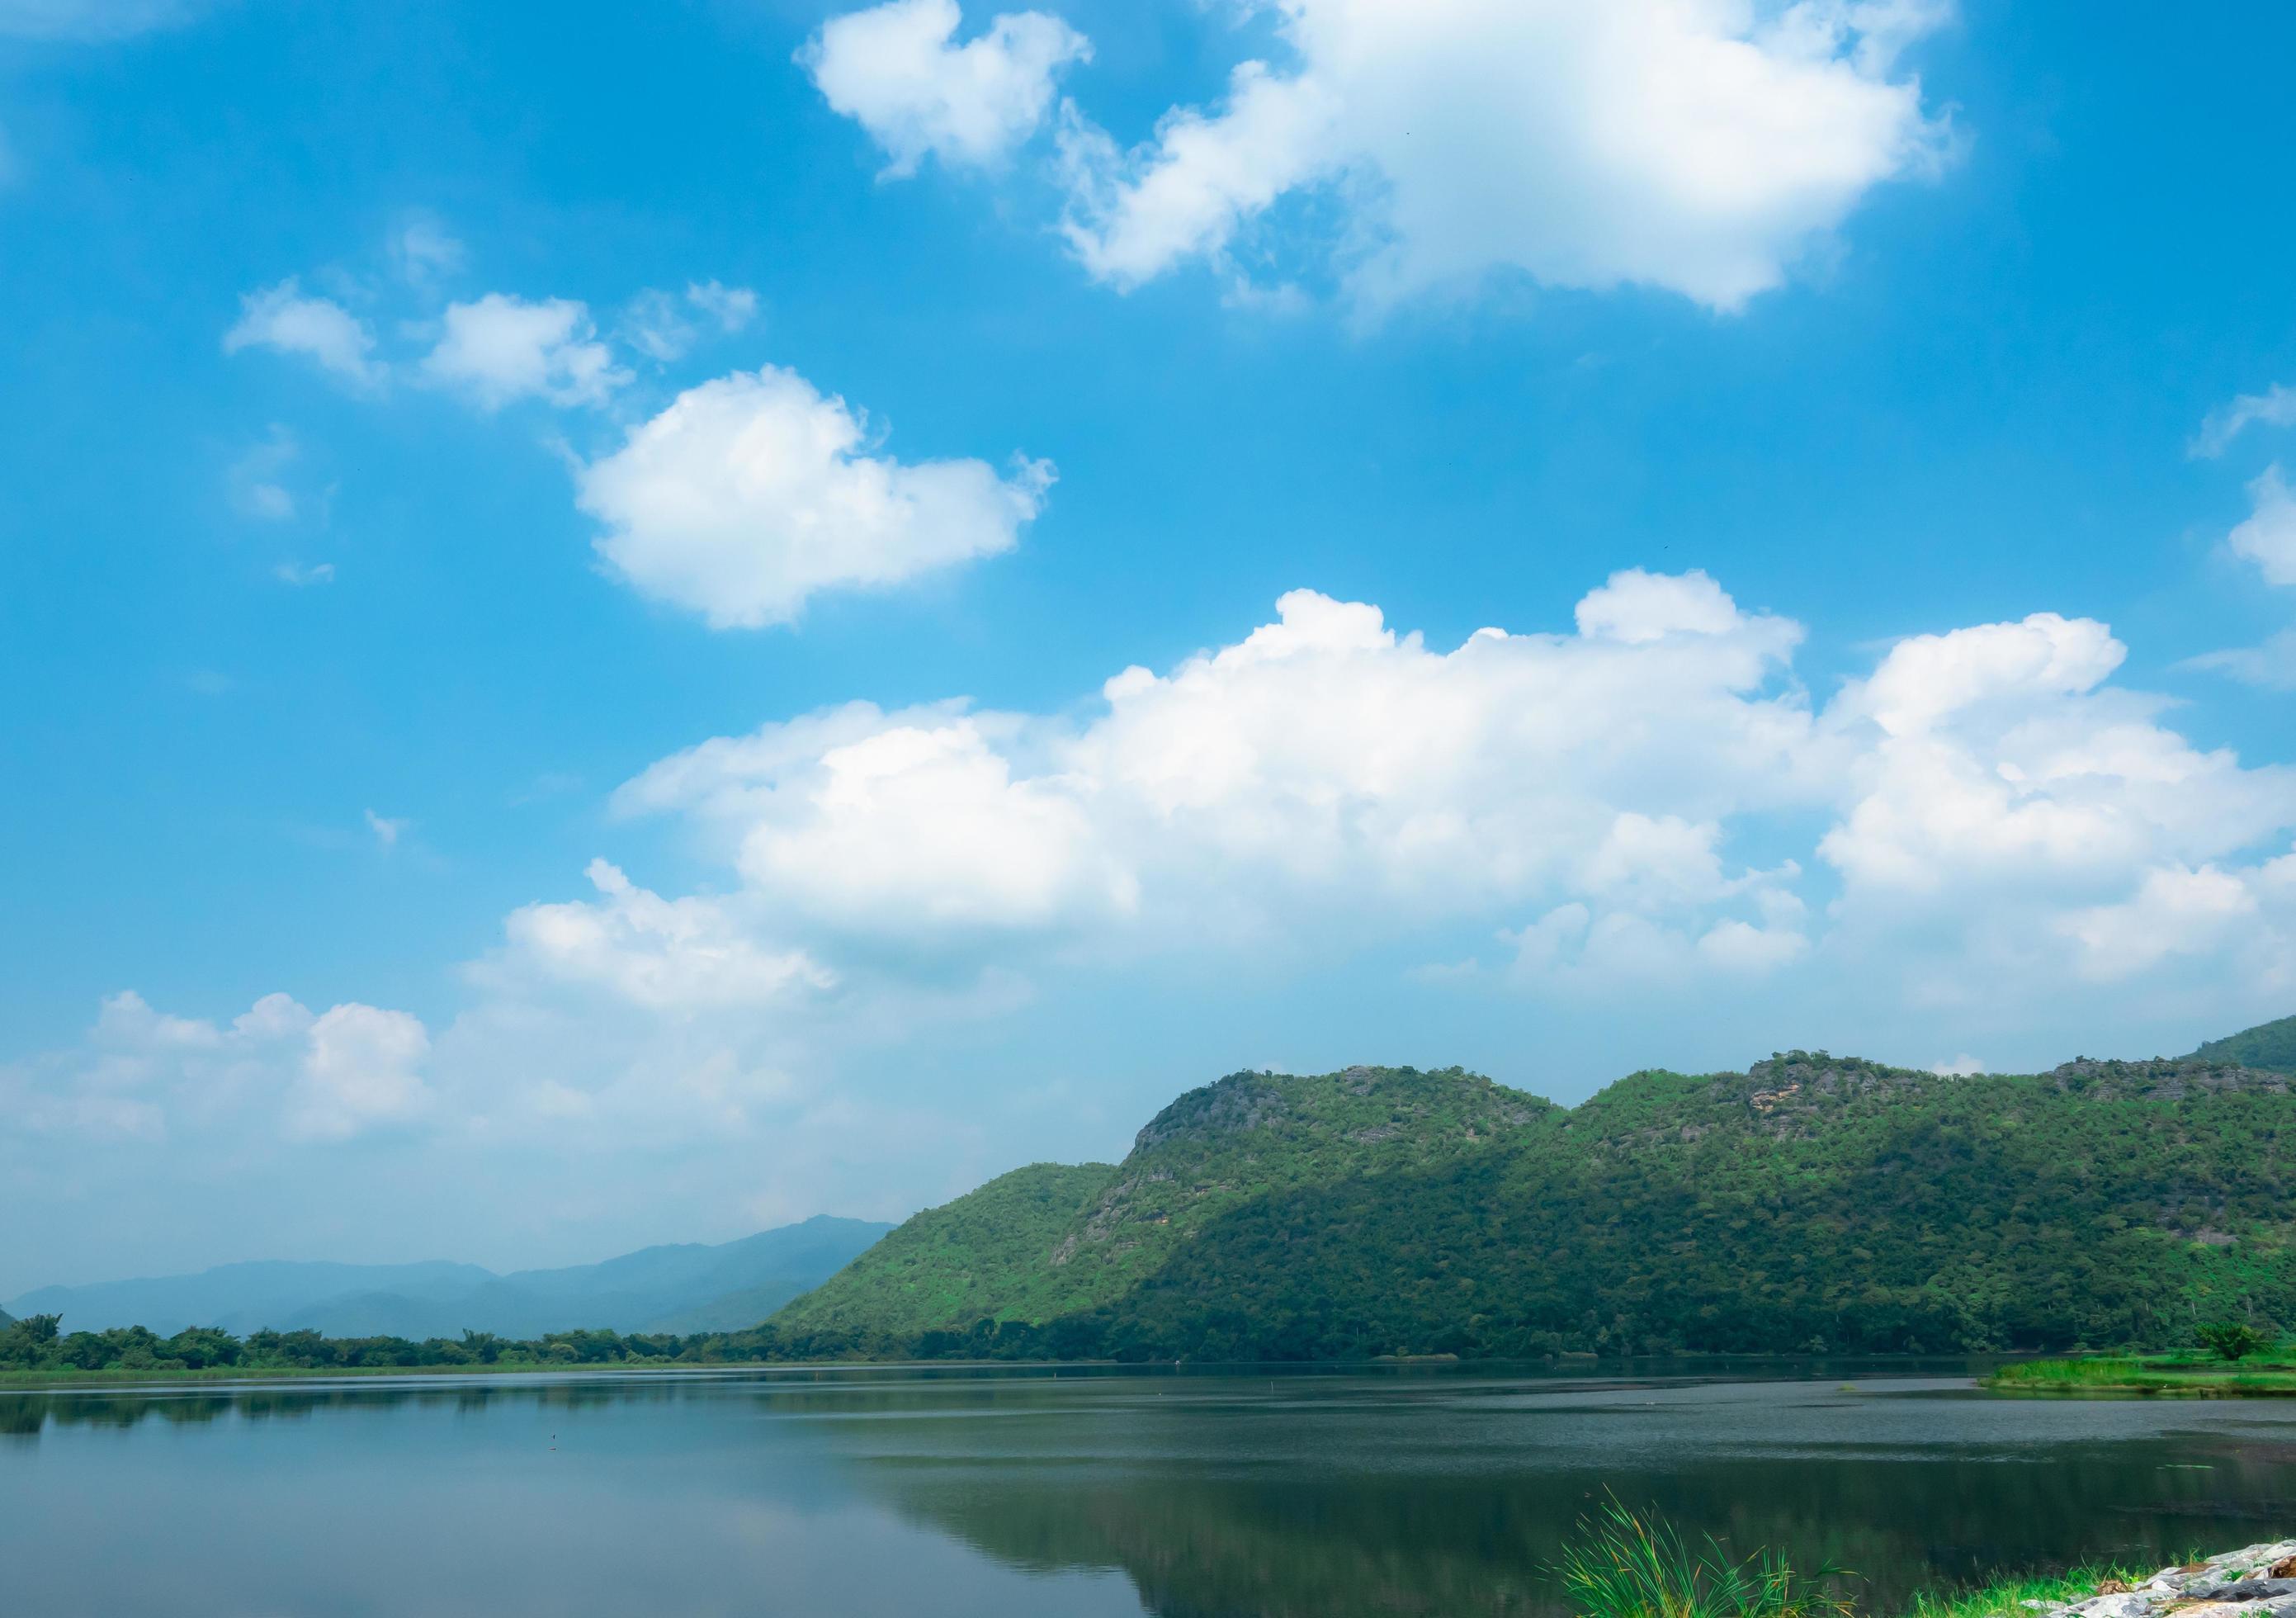
<instances>
[{"instance_id":1,"label":"calm lake reflecting the sky and the green hill","mask_svg":"<svg viewBox=\"0 0 2296 1618\"><path fill-rule=\"evenodd\" d=\"M1552 1613L1614 1492L1936 1581L2296 1531L2296 1402L1965 1377L675 1372L0 1393L21 1613Z\"/></svg>"}]
</instances>

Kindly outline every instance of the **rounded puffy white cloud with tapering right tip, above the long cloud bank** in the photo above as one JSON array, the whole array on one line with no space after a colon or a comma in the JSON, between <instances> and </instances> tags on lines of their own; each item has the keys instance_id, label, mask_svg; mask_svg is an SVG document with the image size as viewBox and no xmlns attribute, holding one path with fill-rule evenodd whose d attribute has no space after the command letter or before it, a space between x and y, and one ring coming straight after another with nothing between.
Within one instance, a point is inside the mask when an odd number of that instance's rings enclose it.
<instances>
[{"instance_id":1,"label":"rounded puffy white cloud with tapering right tip, above the long cloud bank","mask_svg":"<svg viewBox=\"0 0 2296 1618\"><path fill-rule=\"evenodd\" d=\"M815 590L889 585L1013 549L1052 487L1047 461L866 454L868 422L767 365L689 388L581 468L597 551L629 585L714 629L797 617Z\"/></svg>"}]
</instances>

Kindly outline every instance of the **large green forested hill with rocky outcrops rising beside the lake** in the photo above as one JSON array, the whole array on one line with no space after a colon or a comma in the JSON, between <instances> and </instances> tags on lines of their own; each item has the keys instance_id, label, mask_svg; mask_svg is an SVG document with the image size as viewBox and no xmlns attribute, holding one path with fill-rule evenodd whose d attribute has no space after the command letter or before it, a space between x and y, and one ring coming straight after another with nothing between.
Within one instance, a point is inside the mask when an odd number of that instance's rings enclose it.
<instances>
[{"instance_id":1,"label":"large green forested hill with rocky outcrops rising beside the lake","mask_svg":"<svg viewBox=\"0 0 2296 1618\"><path fill-rule=\"evenodd\" d=\"M785 1354L1942 1352L2296 1324L2289 1074L1825 1053L1577 1109L1451 1072L1231 1074L1123 1164L918 1214Z\"/></svg>"}]
</instances>

